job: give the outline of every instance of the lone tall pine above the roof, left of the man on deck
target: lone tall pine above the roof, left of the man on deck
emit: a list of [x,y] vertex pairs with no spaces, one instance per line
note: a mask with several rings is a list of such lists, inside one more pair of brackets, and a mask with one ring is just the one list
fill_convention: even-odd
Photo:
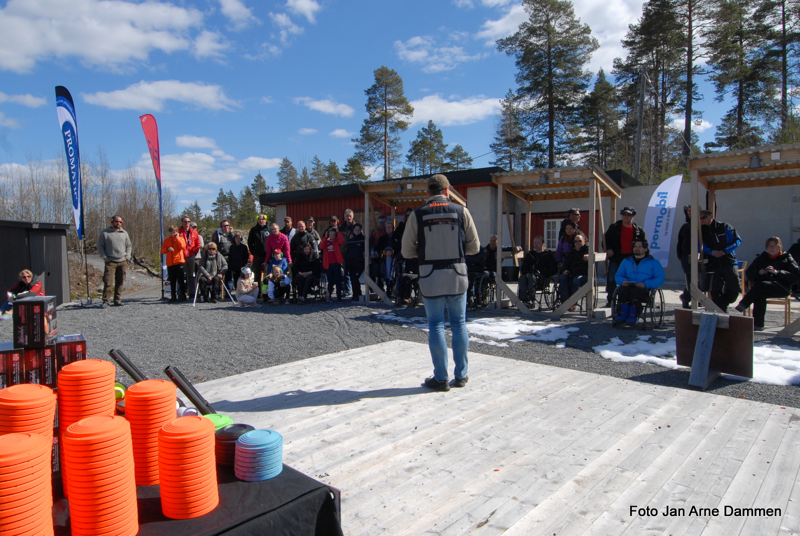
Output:
[[400,151],[399,132],[408,128],[406,119],[414,107],[403,94],[402,78],[386,66],[374,70],[375,83],[365,90],[366,114],[358,138],[353,138],[358,159],[370,164],[383,164],[383,178],[391,178],[391,168]]

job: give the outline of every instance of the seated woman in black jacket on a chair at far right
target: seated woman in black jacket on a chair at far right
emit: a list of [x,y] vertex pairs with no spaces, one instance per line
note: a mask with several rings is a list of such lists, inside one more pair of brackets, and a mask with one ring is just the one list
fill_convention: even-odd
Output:
[[753,264],[747,266],[746,276],[750,290],[735,307],[740,313],[753,306],[753,328],[764,329],[766,298],[785,298],[792,285],[800,281],[797,262],[783,251],[783,243],[777,236],[766,239],[766,251],[758,255]]

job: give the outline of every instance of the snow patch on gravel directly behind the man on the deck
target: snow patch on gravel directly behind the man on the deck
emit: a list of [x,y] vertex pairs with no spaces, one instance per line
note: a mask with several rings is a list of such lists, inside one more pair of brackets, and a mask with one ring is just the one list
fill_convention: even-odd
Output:
[[[428,326],[428,320],[425,317],[404,318],[394,313],[377,313],[374,316],[381,320],[401,322],[403,326],[416,327],[423,330],[427,330]],[[445,322],[445,326],[450,326],[450,323]],[[482,342],[490,346],[507,347],[507,344],[486,341],[478,337],[488,337],[507,342],[555,342],[565,340],[570,336],[571,332],[578,331],[579,328],[514,318],[474,318],[466,321],[466,330],[474,335],[474,337],[470,337],[470,341]]]

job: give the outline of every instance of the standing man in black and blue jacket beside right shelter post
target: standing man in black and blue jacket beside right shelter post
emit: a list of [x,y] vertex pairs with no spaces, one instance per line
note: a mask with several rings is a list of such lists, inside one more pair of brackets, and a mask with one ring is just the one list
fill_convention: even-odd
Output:
[[726,222],[718,222],[710,210],[700,210],[702,252],[708,259],[706,270],[714,272],[711,300],[727,312],[736,301],[742,283],[737,273],[736,248],[742,245],[736,230]]

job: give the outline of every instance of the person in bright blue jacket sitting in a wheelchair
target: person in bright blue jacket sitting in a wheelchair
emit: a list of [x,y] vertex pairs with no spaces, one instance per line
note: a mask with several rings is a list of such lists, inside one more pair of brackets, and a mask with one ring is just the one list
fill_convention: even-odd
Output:
[[617,322],[636,323],[636,314],[642,311],[642,303],[650,298],[650,290],[664,284],[664,269],[661,262],[650,256],[650,245],[646,240],[635,240],[634,256],[619,263],[614,282],[617,283],[617,299],[621,304]]

